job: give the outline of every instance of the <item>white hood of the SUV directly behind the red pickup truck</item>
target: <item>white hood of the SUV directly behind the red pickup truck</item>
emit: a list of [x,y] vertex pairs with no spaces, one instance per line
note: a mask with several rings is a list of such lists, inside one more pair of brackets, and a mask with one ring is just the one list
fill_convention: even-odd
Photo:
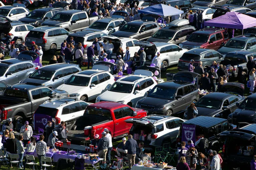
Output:
[[[130,93],[118,93],[118,92],[106,91],[100,95],[100,100],[119,102],[129,98],[130,95],[131,95]],[[113,98],[111,96],[115,96],[115,97]]]

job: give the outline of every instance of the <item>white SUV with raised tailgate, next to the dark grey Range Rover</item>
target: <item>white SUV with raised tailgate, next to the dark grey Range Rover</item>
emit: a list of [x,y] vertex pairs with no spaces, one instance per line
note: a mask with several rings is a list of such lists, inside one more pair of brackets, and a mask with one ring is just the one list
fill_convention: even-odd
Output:
[[134,74],[118,79],[109,89],[96,98],[96,102],[111,101],[135,107],[136,103],[157,85],[148,70],[135,70]]

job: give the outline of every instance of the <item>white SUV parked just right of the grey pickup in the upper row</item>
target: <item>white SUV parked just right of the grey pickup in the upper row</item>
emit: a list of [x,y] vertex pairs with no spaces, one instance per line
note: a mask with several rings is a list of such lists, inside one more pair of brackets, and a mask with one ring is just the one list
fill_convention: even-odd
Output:
[[100,18],[99,20],[93,22],[85,30],[103,32],[111,35],[112,33],[118,31],[118,28],[123,21],[124,19],[122,18]]

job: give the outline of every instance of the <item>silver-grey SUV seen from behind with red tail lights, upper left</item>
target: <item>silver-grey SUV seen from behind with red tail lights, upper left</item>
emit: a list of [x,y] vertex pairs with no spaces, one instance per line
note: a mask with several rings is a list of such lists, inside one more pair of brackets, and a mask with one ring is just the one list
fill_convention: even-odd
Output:
[[42,50],[50,50],[54,54],[61,48],[61,43],[67,39],[69,32],[60,27],[37,27],[30,30],[26,37],[26,45],[31,49],[31,42],[42,46]]

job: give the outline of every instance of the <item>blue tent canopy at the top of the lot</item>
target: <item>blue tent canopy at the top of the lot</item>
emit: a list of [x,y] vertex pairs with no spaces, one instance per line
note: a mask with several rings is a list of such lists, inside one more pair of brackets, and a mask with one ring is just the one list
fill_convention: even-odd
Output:
[[167,16],[172,16],[172,15],[183,14],[184,12],[182,10],[176,9],[169,5],[157,4],[157,5],[152,5],[147,8],[138,10],[138,13],[157,14],[162,17],[167,17]]

